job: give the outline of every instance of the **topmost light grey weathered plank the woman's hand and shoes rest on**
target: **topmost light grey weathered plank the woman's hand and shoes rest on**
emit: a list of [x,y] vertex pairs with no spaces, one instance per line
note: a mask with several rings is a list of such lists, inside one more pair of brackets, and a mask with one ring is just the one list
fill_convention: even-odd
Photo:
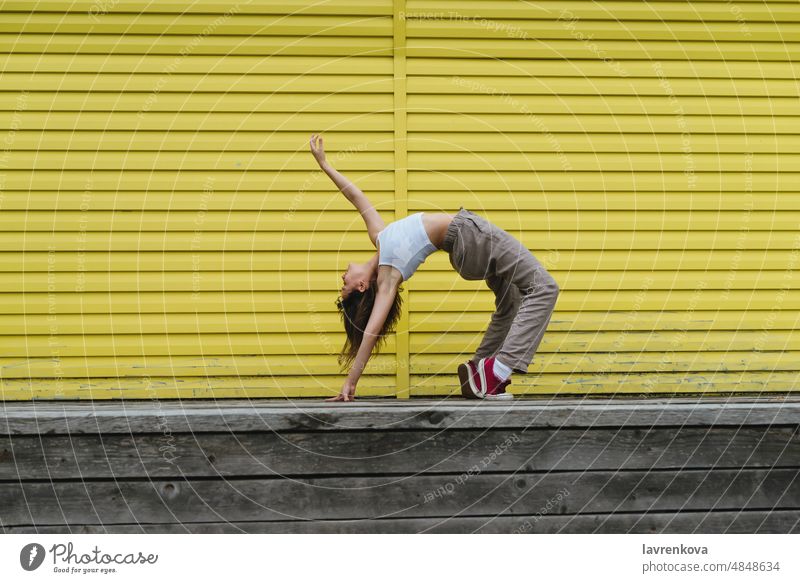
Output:
[[800,397],[674,397],[517,399],[510,403],[414,399],[319,399],[223,403],[5,403],[0,434],[208,433],[365,429],[495,429],[542,427],[796,425]]

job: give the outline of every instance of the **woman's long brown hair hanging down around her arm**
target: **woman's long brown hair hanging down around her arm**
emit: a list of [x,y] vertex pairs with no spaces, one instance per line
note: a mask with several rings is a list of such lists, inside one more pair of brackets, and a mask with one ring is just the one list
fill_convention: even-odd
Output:
[[[338,357],[342,372],[349,370],[356,356],[358,356],[358,349],[361,347],[361,340],[364,338],[364,329],[367,327],[369,317],[372,315],[372,308],[375,305],[377,287],[377,280],[373,279],[369,287],[363,292],[353,290],[347,296],[347,299],[340,297],[336,300],[336,307],[339,309],[339,314],[344,323],[344,332],[347,335]],[[381,326],[381,331],[378,334],[373,354],[380,352],[381,347],[386,343],[386,335],[394,330],[400,319],[403,307],[403,298],[400,296],[401,291],[403,291],[403,288],[398,287],[394,302],[392,302],[389,313],[386,315],[386,321]]]

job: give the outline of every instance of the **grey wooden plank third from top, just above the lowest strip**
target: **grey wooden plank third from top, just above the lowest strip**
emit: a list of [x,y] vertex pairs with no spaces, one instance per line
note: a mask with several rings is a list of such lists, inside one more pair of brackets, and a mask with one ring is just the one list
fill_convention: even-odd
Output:
[[[114,524],[530,515],[558,493],[563,494],[553,514],[800,510],[800,470],[475,474],[465,468],[460,474],[402,479],[2,482],[0,522],[15,526],[80,523],[87,518]],[[23,500],[37,504],[26,506]]]

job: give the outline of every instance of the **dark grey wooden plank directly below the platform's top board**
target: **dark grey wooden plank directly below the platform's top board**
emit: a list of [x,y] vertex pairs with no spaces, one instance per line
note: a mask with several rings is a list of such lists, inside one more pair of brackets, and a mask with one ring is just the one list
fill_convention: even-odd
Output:
[[506,472],[800,467],[800,427],[0,437],[0,480],[457,473],[474,464]]

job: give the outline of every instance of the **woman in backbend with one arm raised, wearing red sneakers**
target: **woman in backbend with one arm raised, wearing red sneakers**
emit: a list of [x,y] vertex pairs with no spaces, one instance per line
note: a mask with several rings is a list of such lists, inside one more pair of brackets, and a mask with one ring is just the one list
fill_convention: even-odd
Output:
[[347,339],[339,364],[350,368],[341,393],[328,401],[351,401],[373,350],[385,341],[400,316],[398,291],[425,259],[447,252],[450,265],[467,280],[483,279],[495,294],[495,312],[475,356],[458,366],[467,398],[511,399],[511,373],[527,373],[559,287],[533,254],[503,229],[461,207],[449,213],[415,213],[386,226],[364,193],[326,160],[322,137],[311,136],[320,168],[358,209],[377,253],[350,263],[342,275],[336,305]]

